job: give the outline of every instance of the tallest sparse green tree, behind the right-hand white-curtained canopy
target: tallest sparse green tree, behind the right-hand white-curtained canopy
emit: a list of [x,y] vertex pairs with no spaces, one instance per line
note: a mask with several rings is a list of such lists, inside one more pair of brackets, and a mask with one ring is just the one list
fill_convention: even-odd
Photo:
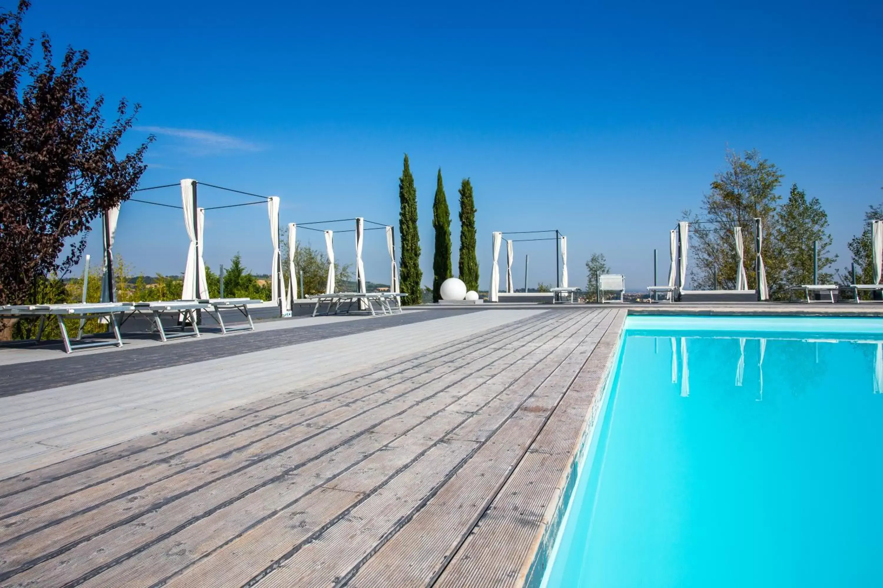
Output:
[[756,287],[754,258],[754,219],[759,218],[764,232],[764,264],[766,281],[771,292],[784,291],[786,267],[781,247],[775,242],[778,234],[777,206],[781,197],[776,190],[784,175],[758,151],[739,155],[727,152],[727,167],[714,175],[711,190],[702,200],[701,215],[684,213],[692,223],[702,222],[689,236],[688,261],[692,287],[710,289],[717,272],[719,287],[736,288],[738,257],[733,229],[743,231],[744,257],[749,288]]

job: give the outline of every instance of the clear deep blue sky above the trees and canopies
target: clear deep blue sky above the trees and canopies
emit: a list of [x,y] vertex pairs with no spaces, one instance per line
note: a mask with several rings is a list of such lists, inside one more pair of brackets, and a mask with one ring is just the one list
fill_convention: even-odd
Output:
[[[638,289],[653,248],[667,273],[668,228],[698,209],[728,148],[779,165],[783,195],[797,182],[819,197],[847,264],[864,210],[883,201],[880,22],[872,2],[34,0],[26,26],[59,52],[89,49],[94,93],[142,104],[132,139],[157,137],[144,186],[192,177],[275,194],[283,224],[397,225],[409,153],[425,283],[442,167],[455,243],[457,187],[472,178],[482,287],[492,231],[558,228],[572,282],[600,251]],[[150,198],[179,202],[173,189]],[[200,191],[201,205],[238,201]],[[386,281],[381,232],[369,235],[368,279]],[[205,241],[215,269],[238,250],[268,271],[262,206],[210,214]],[[124,205],[117,251],[136,270],[181,272],[186,242],[180,212]],[[532,285],[555,280],[552,244],[517,243],[517,284],[525,253]]]

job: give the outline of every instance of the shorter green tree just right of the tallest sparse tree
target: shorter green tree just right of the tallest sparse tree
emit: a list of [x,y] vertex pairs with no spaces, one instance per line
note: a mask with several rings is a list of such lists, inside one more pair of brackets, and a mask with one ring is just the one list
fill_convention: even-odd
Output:
[[785,264],[784,283],[792,286],[812,283],[813,242],[819,242],[819,284],[830,284],[828,271],[837,261],[830,248],[834,242],[827,232],[828,220],[819,198],[806,199],[804,190],[791,186],[788,201],[781,205],[775,244],[781,248]]

